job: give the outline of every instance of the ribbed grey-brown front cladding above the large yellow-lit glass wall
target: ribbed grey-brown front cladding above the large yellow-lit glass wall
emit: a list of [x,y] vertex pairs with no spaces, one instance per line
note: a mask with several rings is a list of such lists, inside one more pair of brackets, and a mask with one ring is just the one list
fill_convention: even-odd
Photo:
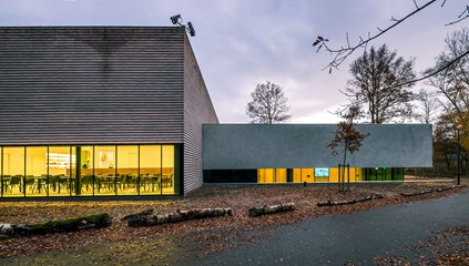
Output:
[[182,143],[179,27],[0,28],[0,145]]

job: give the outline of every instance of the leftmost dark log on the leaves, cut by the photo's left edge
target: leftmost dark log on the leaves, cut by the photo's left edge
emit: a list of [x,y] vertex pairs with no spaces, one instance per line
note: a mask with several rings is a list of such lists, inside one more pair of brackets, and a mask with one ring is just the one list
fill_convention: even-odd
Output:
[[103,228],[112,224],[109,214],[82,216],[78,218],[50,221],[42,224],[0,224],[0,236],[43,235],[49,233],[77,232],[91,228]]

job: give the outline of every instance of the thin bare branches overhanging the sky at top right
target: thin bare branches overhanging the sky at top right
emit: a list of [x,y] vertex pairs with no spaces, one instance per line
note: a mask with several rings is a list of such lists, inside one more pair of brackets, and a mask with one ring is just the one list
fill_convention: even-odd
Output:
[[[378,39],[379,37],[386,34],[386,32],[392,30],[394,28],[397,28],[399,24],[405,22],[410,17],[419,13],[424,9],[436,4],[440,2],[441,7],[445,7],[446,0],[430,0],[421,6],[419,6],[415,0],[415,10],[409,12],[408,14],[404,16],[401,19],[396,19],[395,17],[391,17],[390,20],[392,23],[385,29],[377,28],[378,32],[375,34],[371,34],[368,32],[367,38],[360,37],[356,43],[350,43],[348,33],[346,34],[346,43],[347,45],[341,45],[339,48],[332,48],[328,45],[329,40],[325,37],[318,35],[316,40],[313,42],[313,47],[317,47],[317,52],[322,49],[326,52],[329,52],[334,58],[333,60],[324,68],[328,69],[329,73],[332,73],[333,69],[338,69],[340,64],[343,64],[346,59],[351,55],[355,51],[367,48],[368,43],[373,42],[374,40]],[[463,11],[457,17],[456,20],[448,22],[446,25],[459,23],[462,20],[466,20],[469,18],[469,6],[463,7]],[[461,51],[461,53],[458,54],[458,57],[453,58],[453,60],[449,61],[447,64],[440,65],[440,68],[435,69],[432,72],[427,72],[425,75],[414,79],[412,81],[408,81],[409,83],[415,83],[417,81],[426,80],[435,74],[438,74],[439,72],[446,70],[447,68],[450,68],[453,63],[458,62],[461,58],[469,55],[469,50]]]

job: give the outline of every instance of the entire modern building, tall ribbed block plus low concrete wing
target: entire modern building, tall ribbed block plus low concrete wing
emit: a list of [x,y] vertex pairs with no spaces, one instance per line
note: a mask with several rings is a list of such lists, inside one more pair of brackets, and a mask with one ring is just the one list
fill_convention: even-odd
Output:
[[[337,181],[335,125],[218,124],[181,27],[0,28],[0,197]],[[431,126],[360,125],[351,181],[431,166]]]

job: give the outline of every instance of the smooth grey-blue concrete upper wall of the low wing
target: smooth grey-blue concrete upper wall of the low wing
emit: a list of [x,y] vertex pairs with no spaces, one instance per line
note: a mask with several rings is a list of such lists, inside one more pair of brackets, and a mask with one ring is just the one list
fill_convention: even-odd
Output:
[[[204,170],[336,167],[343,155],[326,147],[335,124],[205,124]],[[430,167],[431,125],[360,124],[370,135],[347,154],[357,167]]]

